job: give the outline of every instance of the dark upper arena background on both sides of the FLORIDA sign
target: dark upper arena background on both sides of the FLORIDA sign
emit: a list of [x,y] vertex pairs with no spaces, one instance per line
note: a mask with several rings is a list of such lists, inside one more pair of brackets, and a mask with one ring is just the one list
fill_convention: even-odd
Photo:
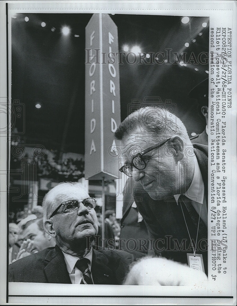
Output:
[[[29,21],[24,20],[25,17]],[[141,52],[208,52],[209,19],[181,16],[110,15],[118,27],[119,51],[139,45]],[[13,136],[25,144],[41,144],[46,149],[84,154],[85,125],[85,27],[92,14],[23,14],[12,22],[12,103],[24,104],[19,120],[13,120]],[[43,28],[41,23],[45,22]],[[202,23],[207,22],[203,28]],[[63,36],[60,28],[71,28]],[[52,32],[51,28],[55,31]],[[199,33],[202,35],[199,35]],[[74,35],[79,35],[75,37]],[[192,39],[196,39],[193,43]],[[189,47],[184,44],[188,42]],[[177,116],[188,134],[200,133],[205,121],[198,115],[197,102],[189,91],[208,77],[208,64],[119,65],[121,120],[128,115],[132,99],[159,96],[177,105]],[[198,71],[195,70],[198,69]],[[10,73],[10,71],[9,71]],[[41,103],[40,109],[35,108]],[[15,107],[16,109],[16,107]],[[13,112],[13,116],[14,112]],[[14,118],[13,118],[14,119]],[[23,121],[25,126],[23,127]],[[16,130],[17,129],[17,130]],[[15,134],[16,133],[16,134]]]

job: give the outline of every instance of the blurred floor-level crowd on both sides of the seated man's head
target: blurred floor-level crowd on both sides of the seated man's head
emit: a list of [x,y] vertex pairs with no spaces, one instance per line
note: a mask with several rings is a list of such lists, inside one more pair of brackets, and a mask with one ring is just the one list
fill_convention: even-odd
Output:
[[[102,244],[102,214],[97,212],[99,231],[98,245],[108,247],[108,241],[119,246],[120,221],[116,219],[115,211],[105,211],[104,239]],[[29,210],[25,205],[22,211],[9,212],[9,264],[22,258],[55,246],[55,241],[44,230],[43,208],[38,205]]]

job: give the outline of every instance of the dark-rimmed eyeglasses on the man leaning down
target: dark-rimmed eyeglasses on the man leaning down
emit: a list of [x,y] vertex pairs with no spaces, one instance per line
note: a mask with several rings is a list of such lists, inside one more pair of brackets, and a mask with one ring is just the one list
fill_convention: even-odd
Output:
[[169,138],[166,138],[164,140],[159,141],[156,144],[153,144],[152,146],[148,147],[147,149],[141,151],[137,155],[135,155],[132,159],[132,162],[122,166],[119,171],[125,173],[127,176],[132,177],[133,176],[133,166],[138,170],[143,170],[146,168],[147,164],[142,157],[143,155],[147,154],[151,150],[160,147],[162,144],[164,144],[166,141],[170,140]]

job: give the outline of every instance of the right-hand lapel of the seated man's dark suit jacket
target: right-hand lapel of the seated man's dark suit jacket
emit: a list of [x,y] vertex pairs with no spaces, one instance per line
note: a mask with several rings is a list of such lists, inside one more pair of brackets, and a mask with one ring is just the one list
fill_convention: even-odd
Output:
[[115,283],[113,272],[108,268],[107,257],[94,250],[92,255],[91,274],[94,284],[112,285]]

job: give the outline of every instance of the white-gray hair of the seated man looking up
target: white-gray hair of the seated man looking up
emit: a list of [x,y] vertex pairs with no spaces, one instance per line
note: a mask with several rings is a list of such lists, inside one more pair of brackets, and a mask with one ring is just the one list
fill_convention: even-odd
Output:
[[[79,182],[62,182],[59,183],[57,186],[50,189],[46,195],[44,196],[42,207],[43,207],[43,222],[45,222],[49,218],[49,211],[50,208],[60,202],[60,198],[68,192],[68,186],[75,186],[83,189],[82,183]],[[51,212],[52,213],[52,212]]]

